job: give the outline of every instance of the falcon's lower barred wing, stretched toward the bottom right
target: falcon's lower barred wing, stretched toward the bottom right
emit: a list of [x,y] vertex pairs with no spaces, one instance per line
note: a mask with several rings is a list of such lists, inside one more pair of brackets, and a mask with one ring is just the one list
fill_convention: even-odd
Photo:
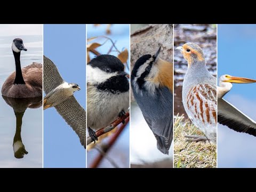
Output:
[[77,102],[74,95],[70,96],[59,105],[55,106],[58,113],[65,119],[68,125],[78,135],[81,144],[86,147],[86,112],[84,108]]

